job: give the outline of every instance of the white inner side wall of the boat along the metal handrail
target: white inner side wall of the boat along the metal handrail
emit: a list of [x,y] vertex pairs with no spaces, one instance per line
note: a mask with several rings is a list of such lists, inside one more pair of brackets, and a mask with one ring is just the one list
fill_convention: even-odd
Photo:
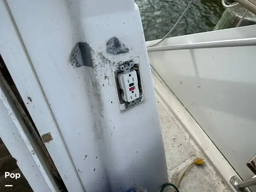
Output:
[[[160,46],[252,38],[255,31],[246,26],[193,34]],[[243,179],[254,175],[246,162],[256,153],[255,53],[256,46],[149,53],[150,64]]]

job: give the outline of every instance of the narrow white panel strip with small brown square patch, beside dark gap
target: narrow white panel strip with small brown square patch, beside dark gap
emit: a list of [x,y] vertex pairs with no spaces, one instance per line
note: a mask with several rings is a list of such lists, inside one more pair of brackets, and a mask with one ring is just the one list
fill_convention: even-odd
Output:
[[[2,29],[0,30],[0,54],[12,74],[12,78],[39,133],[41,135],[48,132],[52,133],[53,140],[47,143],[46,147],[68,190],[83,191],[82,185],[76,176],[76,170],[72,167],[72,162],[66,153],[58,130],[38,88],[24,49],[20,44],[20,39],[2,1],[0,1],[0,9],[0,26]],[[28,100],[28,97],[32,98],[32,102]]]

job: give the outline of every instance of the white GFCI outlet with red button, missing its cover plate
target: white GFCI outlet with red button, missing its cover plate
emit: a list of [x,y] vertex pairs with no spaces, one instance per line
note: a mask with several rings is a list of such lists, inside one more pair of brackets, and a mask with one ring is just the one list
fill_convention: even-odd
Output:
[[140,97],[138,78],[135,70],[118,74],[118,82],[120,89],[122,89],[121,97],[124,101],[130,102]]

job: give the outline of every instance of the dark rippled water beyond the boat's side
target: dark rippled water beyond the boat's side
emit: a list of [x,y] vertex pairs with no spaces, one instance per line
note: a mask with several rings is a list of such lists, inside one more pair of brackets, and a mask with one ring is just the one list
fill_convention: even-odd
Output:
[[[162,38],[176,23],[189,0],[135,0],[146,41]],[[220,19],[224,8],[221,0],[194,0],[184,18],[170,36],[211,31]]]

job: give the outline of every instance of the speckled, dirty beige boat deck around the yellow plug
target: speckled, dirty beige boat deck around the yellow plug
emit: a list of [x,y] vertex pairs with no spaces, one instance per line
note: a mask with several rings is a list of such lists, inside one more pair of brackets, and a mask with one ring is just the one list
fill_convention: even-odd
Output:
[[[154,84],[156,78],[153,73]],[[159,83],[159,82],[158,82]],[[169,181],[177,184],[181,174],[196,158],[203,158],[205,164],[193,165],[182,179],[181,192],[228,192],[230,191],[214,170],[212,164],[187,132],[181,121],[168,108],[161,95],[156,92],[158,114],[162,127],[162,136],[166,153]],[[171,187],[170,187],[171,189]],[[167,191],[167,190],[166,190]],[[173,190],[170,190],[173,191]]]

